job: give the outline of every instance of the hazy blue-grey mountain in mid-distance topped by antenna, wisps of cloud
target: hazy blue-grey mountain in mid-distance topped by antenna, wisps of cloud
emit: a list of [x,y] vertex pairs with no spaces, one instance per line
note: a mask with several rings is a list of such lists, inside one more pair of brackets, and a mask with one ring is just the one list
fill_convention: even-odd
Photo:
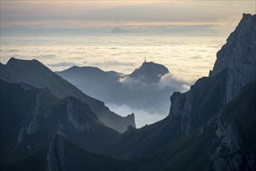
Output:
[[153,62],[144,62],[131,75],[76,66],[56,73],[105,103],[165,115],[170,108],[170,92],[181,91],[184,84],[166,67]]

